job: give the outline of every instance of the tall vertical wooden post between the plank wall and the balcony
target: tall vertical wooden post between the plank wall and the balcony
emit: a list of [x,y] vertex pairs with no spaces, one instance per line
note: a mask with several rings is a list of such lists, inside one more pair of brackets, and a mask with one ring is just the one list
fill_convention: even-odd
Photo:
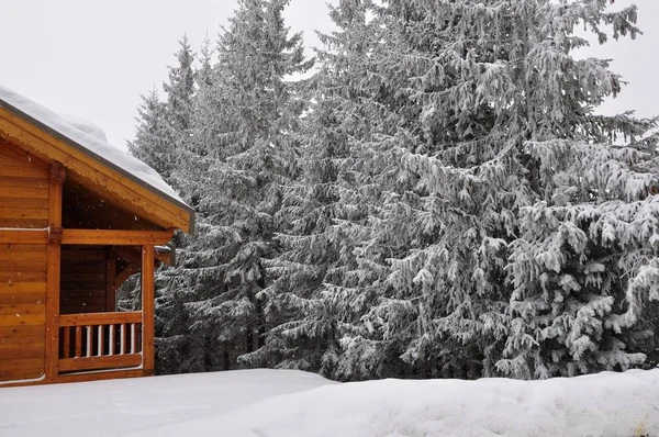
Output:
[[65,167],[53,164],[48,193],[48,255],[46,267],[46,381],[57,377],[59,359],[59,279],[62,258],[62,187]]

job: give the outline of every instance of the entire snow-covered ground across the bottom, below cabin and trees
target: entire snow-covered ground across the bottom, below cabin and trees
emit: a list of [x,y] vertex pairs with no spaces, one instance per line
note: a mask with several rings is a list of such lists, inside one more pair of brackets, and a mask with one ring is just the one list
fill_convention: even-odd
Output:
[[0,389],[0,436],[659,436],[659,370],[336,384],[249,370]]

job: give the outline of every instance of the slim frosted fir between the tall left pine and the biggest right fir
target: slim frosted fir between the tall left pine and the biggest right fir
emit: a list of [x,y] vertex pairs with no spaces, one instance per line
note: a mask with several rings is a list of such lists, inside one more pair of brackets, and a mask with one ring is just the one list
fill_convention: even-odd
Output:
[[[369,47],[377,27],[367,24],[368,3],[342,1],[330,5],[338,30],[320,35],[325,49],[316,51],[320,70],[310,81],[314,102],[304,119],[301,175],[283,190],[277,239],[281,254],[266,262],[276,281],[261,295],[271,327],[263,349],[243,357],[250,366],[276,366],[320,371],[336,378],[337,359],[347,321],[365,311],[356,304],[359,288],[346,273],[356,269],[353,224],[364,223],[367,208],[359,204],[350,167],[350,145],[370,124],[360,99],[369,99]],[[373,83],[373,87],[377,87]],[[344,225],[339,225],[339,222]]]

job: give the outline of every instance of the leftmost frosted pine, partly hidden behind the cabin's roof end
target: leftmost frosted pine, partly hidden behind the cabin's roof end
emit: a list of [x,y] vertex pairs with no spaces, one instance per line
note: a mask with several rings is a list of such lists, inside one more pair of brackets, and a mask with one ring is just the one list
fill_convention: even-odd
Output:
[[[176,53],[178,65],[169,67],[168,81],[163,85],[166,100],[159,101],[154,90],[144,99],[139,110],[136,137],[130,152],[152,166],[163,178],[182,192],[174,178],[181,164],[180,154],[191,142],[192,98],[196,93],[194,56],[187,37],[179,42]],[[191,237],[176,236],[179,261],[185,264],[187,242]],[[196,347],[197,338],[190,332],[190,317],[185,304],[190,299],[189,278],[180,269],[161,268],[156,273],[156,352],[157,371],[176,373],[204,370],[203,345]]]

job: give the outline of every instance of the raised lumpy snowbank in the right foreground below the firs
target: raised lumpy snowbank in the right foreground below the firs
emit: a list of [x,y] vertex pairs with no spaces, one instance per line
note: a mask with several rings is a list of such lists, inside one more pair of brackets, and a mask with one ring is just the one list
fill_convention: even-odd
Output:
[[659,370],[325,385],[138,436],[659,436]]

